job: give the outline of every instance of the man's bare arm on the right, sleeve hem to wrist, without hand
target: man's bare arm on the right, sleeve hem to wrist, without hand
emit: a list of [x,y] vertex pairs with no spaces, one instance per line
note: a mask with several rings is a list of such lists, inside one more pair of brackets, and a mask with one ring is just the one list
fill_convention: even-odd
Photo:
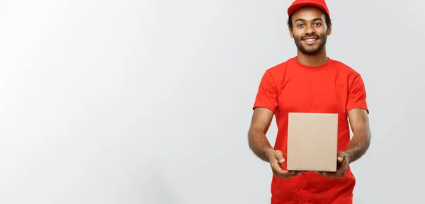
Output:
[[348,120],[350,121],[353,138],[348,143],[345,153],[349,163],[360,159],[368,150],[370,145],[370,128],[368,112],[363,108],[353,108],[348,111]]

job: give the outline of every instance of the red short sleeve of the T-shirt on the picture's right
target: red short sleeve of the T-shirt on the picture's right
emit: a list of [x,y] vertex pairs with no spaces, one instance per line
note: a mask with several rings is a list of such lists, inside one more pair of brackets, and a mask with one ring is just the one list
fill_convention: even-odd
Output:
[[368,104],[366,103],[365,84],[360,74],[354,77],[348,89],[347,113],[353,108],[363,108],[369,113]]

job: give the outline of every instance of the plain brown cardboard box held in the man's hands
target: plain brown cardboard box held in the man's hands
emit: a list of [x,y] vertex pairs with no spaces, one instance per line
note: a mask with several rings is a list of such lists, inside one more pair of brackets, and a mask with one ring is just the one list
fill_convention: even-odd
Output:
[[289,113],[289,171],[336,171],[338,114]]

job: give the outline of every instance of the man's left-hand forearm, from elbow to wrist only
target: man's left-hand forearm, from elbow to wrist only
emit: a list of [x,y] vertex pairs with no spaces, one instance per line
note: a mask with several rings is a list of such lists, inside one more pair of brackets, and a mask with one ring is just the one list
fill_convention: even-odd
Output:
[[268,154],[273,151],[266,134],[261,130],[251,129],[248,132],[249,148],[264,162],[268,162]]

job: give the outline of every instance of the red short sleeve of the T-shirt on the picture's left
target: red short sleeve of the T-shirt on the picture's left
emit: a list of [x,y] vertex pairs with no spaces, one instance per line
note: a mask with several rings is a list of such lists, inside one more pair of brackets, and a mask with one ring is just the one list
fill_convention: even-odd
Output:
[[273,113],[275,113],[278,108],[278,91],[276,83],[271,73],[268,71],[266,71],[261,78],[253,110],[259,107],[268,108],[273,111]]

